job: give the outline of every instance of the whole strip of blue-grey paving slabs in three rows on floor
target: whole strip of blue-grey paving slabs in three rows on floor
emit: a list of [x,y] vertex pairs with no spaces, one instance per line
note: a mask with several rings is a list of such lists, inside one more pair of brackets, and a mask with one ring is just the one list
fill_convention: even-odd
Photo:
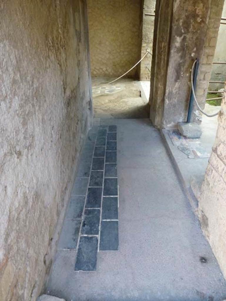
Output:
[[116,126],[93,127],[82,150],[59,249],[76,249],[75,270],[94,271],[98,250],[118,250]]

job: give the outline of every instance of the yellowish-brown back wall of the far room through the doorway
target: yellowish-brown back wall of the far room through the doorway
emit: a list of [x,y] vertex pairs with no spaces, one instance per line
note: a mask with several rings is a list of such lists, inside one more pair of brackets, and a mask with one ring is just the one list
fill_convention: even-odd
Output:
[[[92,76],[120,76],[140,59],[141,2],[87,1]],[[138,68],[127,77],[138,77]]]

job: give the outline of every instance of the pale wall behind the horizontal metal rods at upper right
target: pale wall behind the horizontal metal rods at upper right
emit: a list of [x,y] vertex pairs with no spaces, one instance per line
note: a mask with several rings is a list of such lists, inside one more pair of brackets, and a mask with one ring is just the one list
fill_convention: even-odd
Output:
[[[222,12],[222,17],[226,18],[226,1],[224,1],[224,8]],[[226,23],[225,20],[222,20],[222,23]],[[226,62],[226,25],[220,24],[219,32],[217,37],[217,45],[214,54],[215,62]],[[215,38],[216,38],[215,37]],[[224,82],[226,77],[226,66],[225,65],[213,65],[211,72],[211,80],[212,81],[220,81]],[[222,84],[209,84],[209,88],[211,91],[215,91],[223,88]]]

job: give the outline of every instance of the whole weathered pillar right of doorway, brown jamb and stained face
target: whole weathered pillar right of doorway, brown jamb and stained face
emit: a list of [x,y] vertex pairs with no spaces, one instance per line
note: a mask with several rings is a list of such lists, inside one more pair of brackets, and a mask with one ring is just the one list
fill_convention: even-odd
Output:
[[[170,5],[171,2],[169,2]],[[160,5],[160,11],[169,15],[169,5]],[[213,36],[218,31],[223,0],[173,0],[173,17],[171,26],[168,20],[156,21],[156,49],[152,59],[154,83],[151,83],[151,119],[158,127],[176,128],[178,122],[187,120],[187,110],[190,96],[190,74],[193,61],[201,58],[201,66],[197,85],[198,89],[206,85],[210,76],[213,51],[215,49]],[[157,13],[157,12],[156,12]],[[168,18],[169,19],[169,18]],[[161,41],[167,41],[171,36],[170,52],[163,48]],[[155,42],[154,42],[155,43]],[[165,42],[166,43],[166,42]],[[167,64],[167,65],[166,65]],[[165,71],[164,71],[165,70]],[[164,71],[164,72],[163,72]],[[163,74],[161,78],[156,77]],[[165,79],[165,73],[167,73]],[[161,92],[163,91],[163,92]],[[164,93],[166,91],[166,93]],[[164,94],[164,98],[159,93]],[[202,88],[203,99],[203,88]],[[205,97],[204,97],[205,98]]]

